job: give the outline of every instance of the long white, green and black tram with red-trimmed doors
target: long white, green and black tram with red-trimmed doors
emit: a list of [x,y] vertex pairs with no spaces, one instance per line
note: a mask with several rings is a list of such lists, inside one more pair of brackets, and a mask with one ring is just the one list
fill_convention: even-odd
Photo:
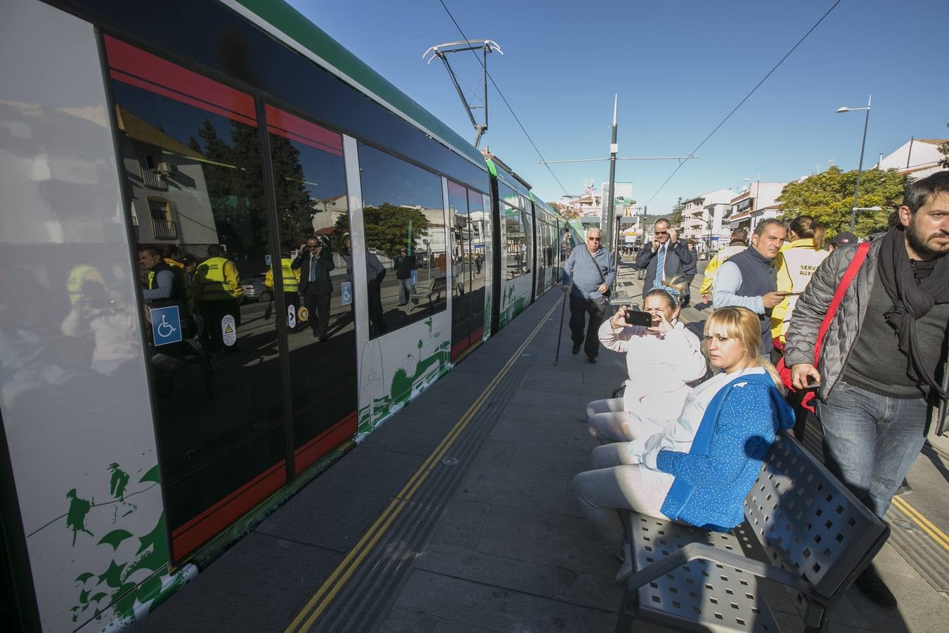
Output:
[[[571,228],[281,2],[0,24],[0,624],[121,628],[555,285]],[[319,315],[283,272],[312,235]]]

